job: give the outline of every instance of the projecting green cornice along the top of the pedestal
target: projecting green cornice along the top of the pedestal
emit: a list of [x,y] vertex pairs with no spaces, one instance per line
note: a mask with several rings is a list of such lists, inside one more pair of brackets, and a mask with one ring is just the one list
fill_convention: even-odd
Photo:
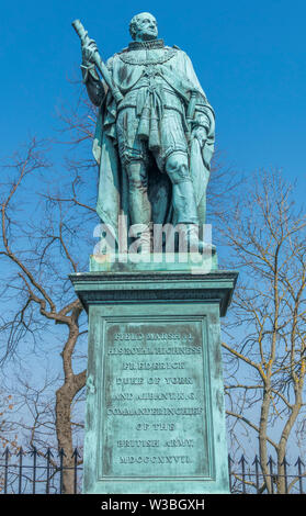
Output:
[[79,272],[69,278],[84,309],[91,304],[209,302],[219,304],[220,316],[230,304],[238,272],[184,271]]

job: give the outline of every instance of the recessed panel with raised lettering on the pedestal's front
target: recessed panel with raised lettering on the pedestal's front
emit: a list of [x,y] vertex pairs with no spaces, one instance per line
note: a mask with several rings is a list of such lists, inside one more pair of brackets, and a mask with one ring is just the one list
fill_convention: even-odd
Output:
[[203,322],[107,321],[103,339],[100,476],[209,476]]

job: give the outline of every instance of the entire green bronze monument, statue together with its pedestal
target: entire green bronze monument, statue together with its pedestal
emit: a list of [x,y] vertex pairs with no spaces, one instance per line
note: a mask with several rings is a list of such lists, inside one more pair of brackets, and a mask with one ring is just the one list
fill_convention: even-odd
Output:
[[199,242],[214,112],[189,57],[157,38],[151,14],[134,16],[133,42],[106,67],[73,26],[99,106],[98,213],[116,238],[125,215],[147,258],[93,255],[90,272],[70,276],[89,314],[83,492],[228,493],[219,318],[237,272],[218,270],[203,242],[197,259],[150,255],[152,223],[180,223]]

